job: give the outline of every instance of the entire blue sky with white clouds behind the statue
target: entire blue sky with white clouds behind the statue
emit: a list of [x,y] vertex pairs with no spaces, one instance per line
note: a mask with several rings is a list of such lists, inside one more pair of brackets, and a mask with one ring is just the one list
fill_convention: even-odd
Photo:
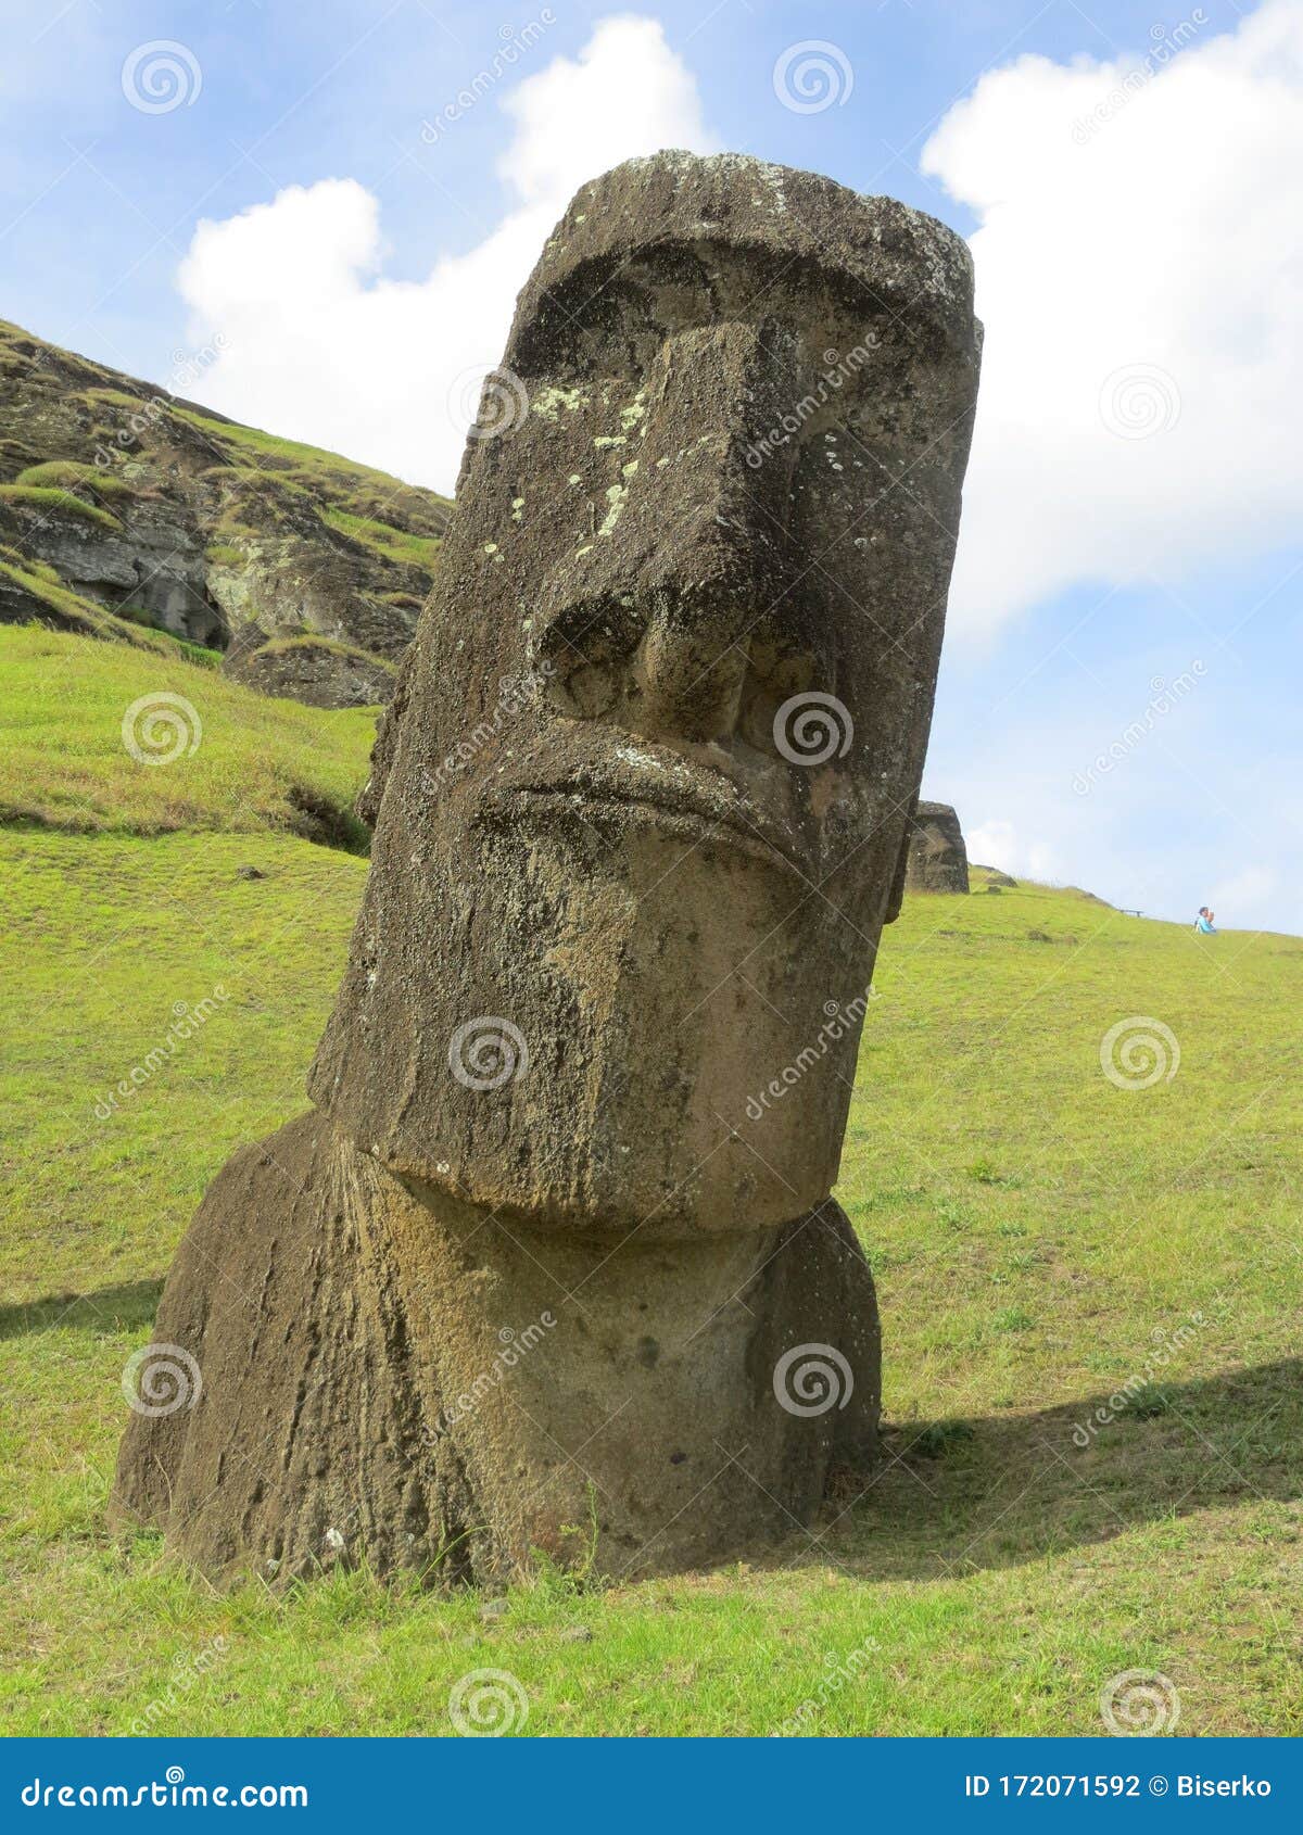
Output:
[[[925,791],[1013,872],[1303,930],[1301,0],[59,6],[6,7],[0,314],[160,382],[189,360],[184,393],[424,483],[521,250],[639,136],[973,237]],[[130,94],[160,40],[176,106]]]

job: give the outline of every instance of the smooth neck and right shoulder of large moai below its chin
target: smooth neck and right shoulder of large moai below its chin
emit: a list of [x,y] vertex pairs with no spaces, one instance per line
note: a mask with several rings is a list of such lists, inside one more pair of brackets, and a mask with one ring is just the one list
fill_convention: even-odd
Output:
[[[530,1228],[365,1167],[422,1451],[455,1464],[486,1525],[466,1525],[477,1578],[534,1549],[604,1573],[719,1560],[795,1530],[835,1461],[872,1455],[874,1286],[837,1206],[657,1242]],[[826,1407],[800,1389],[811,1362]]]

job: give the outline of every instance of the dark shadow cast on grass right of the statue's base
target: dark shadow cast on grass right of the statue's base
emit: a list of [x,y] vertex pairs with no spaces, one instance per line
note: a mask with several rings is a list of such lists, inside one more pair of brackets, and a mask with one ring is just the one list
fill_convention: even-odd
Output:
[[1283,1358],[1130,1400],[888,1426],[883,1466],[842,1481],[800,1563],[962,1576],[1197,1510],[1297,1497],[1303,1360]]

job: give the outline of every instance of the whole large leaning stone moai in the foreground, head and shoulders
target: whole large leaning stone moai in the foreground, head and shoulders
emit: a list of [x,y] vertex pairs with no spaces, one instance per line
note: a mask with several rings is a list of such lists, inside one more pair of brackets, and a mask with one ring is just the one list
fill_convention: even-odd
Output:
[[171,1270],[117,1516],[213,1576],[791,1534],[875,1450],[830,1196],[978,378],[963,242],[738,156],[585,185],[376,747],[312,1110]]

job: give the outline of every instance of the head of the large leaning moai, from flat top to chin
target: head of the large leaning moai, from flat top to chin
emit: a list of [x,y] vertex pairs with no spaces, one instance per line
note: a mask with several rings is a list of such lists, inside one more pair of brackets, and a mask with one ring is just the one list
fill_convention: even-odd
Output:
[[525,286],[395,717],[312,1095],[532,1228],[837,1174],[927,741],[971,264],[740,156],[585,185]]

